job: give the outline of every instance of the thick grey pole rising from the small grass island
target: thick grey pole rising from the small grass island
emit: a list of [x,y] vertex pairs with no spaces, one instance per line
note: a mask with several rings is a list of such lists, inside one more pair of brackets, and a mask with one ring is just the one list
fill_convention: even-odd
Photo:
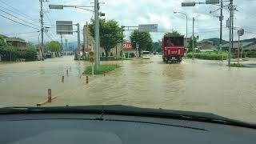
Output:
[[94,19],[95,19],[95,25],[94,25],[94,41],[96,42],[96,48],[95,48],[95,68],[98,70],[98,66],[100,65],[99,62],[99,18],[98,18],[98,10],[99,10],[99,3],[98,0],[94,0]]

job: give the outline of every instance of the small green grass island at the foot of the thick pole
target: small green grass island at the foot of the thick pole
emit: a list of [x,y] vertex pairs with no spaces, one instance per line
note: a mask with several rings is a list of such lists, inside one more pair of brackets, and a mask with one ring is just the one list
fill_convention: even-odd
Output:
[[[113,71],[121,66],[118,65],[101,65],[98,70],[94,70],[94,74],[104,74]],[[92,66],[87,66],[86,70],[82,74],[91,74]]]

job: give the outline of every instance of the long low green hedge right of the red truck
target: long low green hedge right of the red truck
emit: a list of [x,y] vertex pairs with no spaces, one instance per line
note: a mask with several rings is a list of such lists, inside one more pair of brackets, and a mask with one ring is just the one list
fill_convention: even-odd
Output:
[[[187,58],[192,58],[192,56],[192,53],[186,55]],[[222,54],[218,54],[217,52],[194,53],[194,58],[206,60],[226,60],[227,57],[228,54],[224,52]]]

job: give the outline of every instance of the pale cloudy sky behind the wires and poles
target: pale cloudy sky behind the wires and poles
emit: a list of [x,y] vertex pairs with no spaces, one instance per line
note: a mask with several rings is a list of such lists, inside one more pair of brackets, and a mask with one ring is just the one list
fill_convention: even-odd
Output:
[[[46,0],[45,0],[46,1]],[[174,11],[180,11],[188,14],[188,31],[192,34],[192,18],[195,18],[194,31],[200,40],[204,38],[219,38],[220,22],[217,16],[220,11],[210,14],[220,6],[214,5],[197,5],[194,7],[182,7],[181,3],[190,0],[101,0],[105,2],[101,5],[102,12],[106,13],[106,19],[114,19],[119,22],[120,26],[138,26],[138,24],[158,24],[158,32],[150,33],[155,41],[162,38],[166,31],[178,30],[181,34],[186,35],[186,18],[182,14],[174,14]],[[93,13],[86,10],[74,8],[65,8],[64,10],[49,10],[49,4],[65,5],[83,5],[91,6],[92,0],[50,0],[44,2],[44,22],[50,26],[50,31],[46,35],[46,41],[51,39],[60,40],[60,36],[55,32],[55,21],[69,20],[80,25],[90,22]],[[191,1],[190,1],[191,2]],[[198,0],[196,2],[204,2]],[[226,6],[228,3],[224,2]],[[237,8],[234,15],[234,26],[242,27],[246,30],[242,38],[255,38],[256,34],[256,1],[255,0],[234,0]],[[37,27],[39,24],[39,1],[38,0],[0,0],[0,34],[7,36],[16,36],[25,38],[29,42],[38,42],[37,30],[22,26],[12,22],[22,22],[28,26]],[[7,12],[8,14],[6,14]],[[10,16],[10,14],[14,15]],[[223,38],[228,40],[229,31],[226,28],[226,19],[229,17],[227,7],[223,10]],[[2,18],[2,16],[6,18]],[[22,19],[22,20],[21,20]],[[25,22],[24,22],[25,21]],[[28,34],[21,34],[28,33]],[[126,31],[126,39],[129,39],[130,31]],[[77,41],[77,35],[65,35],[64,38],[69,42]],[[237,39],[236,30],[234,30],[234,39]]]

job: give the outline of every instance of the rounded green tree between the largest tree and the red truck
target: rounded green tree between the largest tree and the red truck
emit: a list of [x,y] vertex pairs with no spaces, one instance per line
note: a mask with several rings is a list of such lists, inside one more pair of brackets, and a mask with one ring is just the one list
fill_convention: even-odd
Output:
[[154,43],[152,38],[150,37],[149,32],[134,30],[130,34],[130,42],[132,42],[133,47],[136,47],[136,44],[138,43],[139,57],[141,57],[142,50],[147,50],[147,51],[153,50]]

